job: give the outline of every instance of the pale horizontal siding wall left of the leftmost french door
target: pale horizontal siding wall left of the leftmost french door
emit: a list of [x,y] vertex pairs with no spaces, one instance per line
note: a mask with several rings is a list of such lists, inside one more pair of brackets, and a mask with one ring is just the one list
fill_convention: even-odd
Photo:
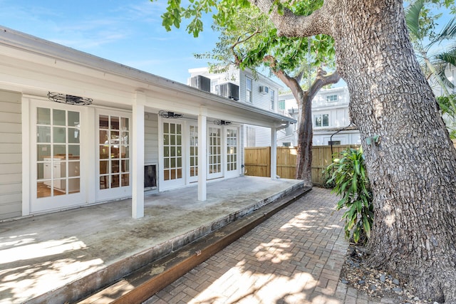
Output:
[[0,90],[0,219],[21,216],[21,94]]

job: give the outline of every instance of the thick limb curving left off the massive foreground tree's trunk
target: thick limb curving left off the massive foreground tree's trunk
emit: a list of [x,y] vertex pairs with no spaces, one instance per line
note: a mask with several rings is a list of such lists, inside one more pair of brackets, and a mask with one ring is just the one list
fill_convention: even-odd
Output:
[[288,37],[309,37],[319,33],[331,36],[331,13],[326,4],[331,1],[324,1],[321,9],[317,9],[309,16],[297,16],[289,9],[284,9],[284,14],[279,14],[274,0],[249,0],[256,5],[277,28],[279,36]]

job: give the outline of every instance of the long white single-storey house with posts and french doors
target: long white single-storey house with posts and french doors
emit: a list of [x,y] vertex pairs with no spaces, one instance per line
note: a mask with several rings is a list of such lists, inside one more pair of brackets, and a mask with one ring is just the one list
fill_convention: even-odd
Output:
[[191,184],[204,201],[207,181],[243,174],[245,123],[274,138],[292,122],[0,27],[0,219],[125,197],[140,218],[145,189]]

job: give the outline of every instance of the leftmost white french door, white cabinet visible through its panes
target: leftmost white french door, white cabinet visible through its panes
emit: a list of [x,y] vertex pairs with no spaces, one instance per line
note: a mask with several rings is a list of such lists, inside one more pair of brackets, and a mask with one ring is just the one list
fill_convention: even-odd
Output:
[[85,204],[81,110],[31,103],[31,212]]

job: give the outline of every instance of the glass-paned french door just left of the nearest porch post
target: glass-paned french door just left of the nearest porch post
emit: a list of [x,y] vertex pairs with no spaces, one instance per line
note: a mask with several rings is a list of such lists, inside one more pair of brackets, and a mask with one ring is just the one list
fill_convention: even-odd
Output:
[[97,111],[97,201],[131,195],[131,115]]

